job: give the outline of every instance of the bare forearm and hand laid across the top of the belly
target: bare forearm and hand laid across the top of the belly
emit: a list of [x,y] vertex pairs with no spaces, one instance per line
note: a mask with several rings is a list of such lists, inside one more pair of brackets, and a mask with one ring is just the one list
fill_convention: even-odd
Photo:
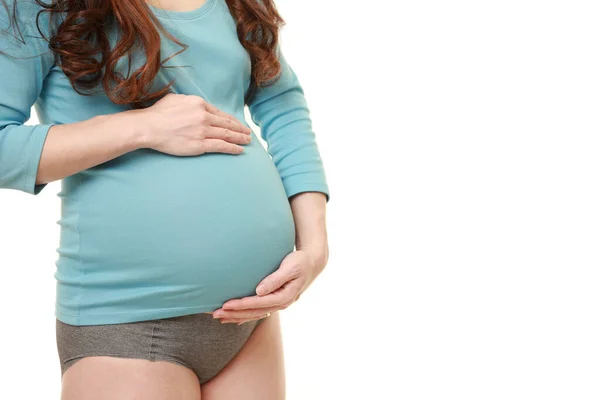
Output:
[[36,184],[62,179],[140,148],[177,156],[240,154],[250,128],[198,96],[169,94],[152,107],[52,126]]

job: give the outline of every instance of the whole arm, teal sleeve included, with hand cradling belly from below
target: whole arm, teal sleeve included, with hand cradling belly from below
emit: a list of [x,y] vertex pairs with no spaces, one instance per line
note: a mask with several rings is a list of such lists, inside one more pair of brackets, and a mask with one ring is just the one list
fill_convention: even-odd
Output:
[[329,259],[325,207],[329,187],[316,143],[304,90],[278,49],[281,75],[257,90],[249,104],[279,171],[296,225],[296,251],[256,288],[256,296],[228,300],[213,316],[243,323],[263,318],[296,302]]

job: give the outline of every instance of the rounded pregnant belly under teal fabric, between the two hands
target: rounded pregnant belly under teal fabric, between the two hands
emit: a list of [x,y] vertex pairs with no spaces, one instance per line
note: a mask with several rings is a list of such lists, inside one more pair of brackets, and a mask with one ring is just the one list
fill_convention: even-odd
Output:
[[59,301],[81,291],[79,311],[212,310],[255,294],[294,248],[285,190],[256,141],[237,156],[137,150],[80,173],[72,191],[81,265],[59,260],[57,278]]

